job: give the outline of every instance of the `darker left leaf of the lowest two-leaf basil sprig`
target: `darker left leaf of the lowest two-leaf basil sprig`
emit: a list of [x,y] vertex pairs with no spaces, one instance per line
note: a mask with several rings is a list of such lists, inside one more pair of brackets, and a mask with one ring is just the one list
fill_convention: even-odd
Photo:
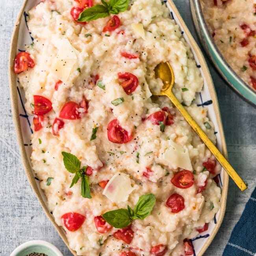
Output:
[[108,211],[102,215],[104,220],[115,228],[125,228],[132,223],[129,211],[127,209],[118,209]]

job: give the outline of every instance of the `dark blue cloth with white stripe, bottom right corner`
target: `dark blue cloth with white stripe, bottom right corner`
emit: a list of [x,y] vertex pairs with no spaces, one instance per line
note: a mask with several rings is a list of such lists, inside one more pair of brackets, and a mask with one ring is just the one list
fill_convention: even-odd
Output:
[[256,255],[256,188],[237,222],[223,256]]

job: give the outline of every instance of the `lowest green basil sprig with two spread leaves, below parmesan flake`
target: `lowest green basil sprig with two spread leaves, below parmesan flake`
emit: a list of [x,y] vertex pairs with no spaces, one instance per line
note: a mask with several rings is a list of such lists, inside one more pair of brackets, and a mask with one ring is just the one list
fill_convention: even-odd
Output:
[[153,194],[142,195],[134,207],[130,206],[127,209],[118,209],[108,211],[102,215],[104,220],[115,228],[125,228],[129,226],[135,219],[145,219],[150,215],[156,202],[156,197]]

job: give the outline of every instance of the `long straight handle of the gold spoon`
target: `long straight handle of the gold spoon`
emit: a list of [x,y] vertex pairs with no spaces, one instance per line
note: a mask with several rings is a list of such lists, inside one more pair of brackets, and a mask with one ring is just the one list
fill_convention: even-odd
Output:
[[173,104],[176,106],[176,108],[180,111],[180,113],[184,116],[186,121],[191,125],[191,127],[195,130],[195,132],[198,134],[198,136],[202,139],[202,141],[205,143],[205,145],[210,149],[211,153],[215,156],[215,158],[219,161],[219,163],[224,167],[228,175],[234,180],[236,185],[241,189],[241,191],[244,191],[247,189],[247,186],[245,182],[239,177],[239,175],[236,173],[234,168],[228,163],[226,158],[224,158],[223,154],[218,150],[217,147],[211,142],[211,140],[208,138],[208,136],[203,132],[203,130],[198,126],[198,124],[194,121],[194,119],[189,115],[187,110],[180,104],[180,102],[177,100],[177,98],[173,95],[171,90],[167,90],[164,92],[164,95],[170,98],[170,100],[173,102]]

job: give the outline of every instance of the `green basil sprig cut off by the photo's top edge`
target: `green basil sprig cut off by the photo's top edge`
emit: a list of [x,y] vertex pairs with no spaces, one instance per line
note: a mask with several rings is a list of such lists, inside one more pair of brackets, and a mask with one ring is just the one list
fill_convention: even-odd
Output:
[[78,21],[90,21],[104,17],[108,17],[110,13],[118,14],[121,11],[125,11],[128,7],[129,0],[110,0],[109,3],[101,0],[101,4],[85,9],[80,13]]

